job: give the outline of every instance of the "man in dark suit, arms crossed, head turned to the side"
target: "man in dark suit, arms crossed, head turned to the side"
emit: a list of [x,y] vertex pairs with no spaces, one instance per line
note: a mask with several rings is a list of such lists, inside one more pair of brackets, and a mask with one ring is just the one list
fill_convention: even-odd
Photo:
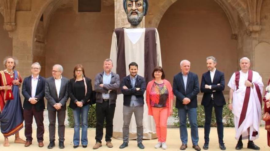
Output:
[[222,93],[225,88],[224,73],[216,69],[217,60],[213,56],[206,58],[206,65],[209,71],[203,74],[201,82],[201,92],[203,92],[202,105],[204,106],[205,112],[203,149],[208,149],[209,146],[210,124],[214,106],[218,126],[219,148],[225,150],[222,122],[222,110],[223,106],[226,104]]

